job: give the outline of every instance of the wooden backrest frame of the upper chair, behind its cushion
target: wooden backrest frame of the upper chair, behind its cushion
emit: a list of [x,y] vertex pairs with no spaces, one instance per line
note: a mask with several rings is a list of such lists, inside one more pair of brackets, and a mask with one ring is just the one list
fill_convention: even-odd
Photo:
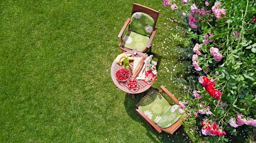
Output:
[[[155,24],[157,24],[157,18],[159,15],[159,11],[150,9],[150,8],[140,5],[140,4],[133,3],[132,14],[135,12],[143,12],[143,13],[148,14],[149,16],[151,16],[153,18],[153,20],[155,21]],[[131,16],[132,16],[132,14],[131,14]]]

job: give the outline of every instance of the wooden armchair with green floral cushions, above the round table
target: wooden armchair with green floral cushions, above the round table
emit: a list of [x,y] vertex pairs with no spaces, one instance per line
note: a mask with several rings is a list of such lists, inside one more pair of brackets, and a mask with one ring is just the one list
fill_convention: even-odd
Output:
[[[126,20],[118,35],[121,38],[119,44],[121,53],[132,49],[146,53],[151,48],[151,42],[157,31],[155,24],[158,15],[159,11],[133,3],[131,18]],[[128,32],[124,35],[127,27]]]

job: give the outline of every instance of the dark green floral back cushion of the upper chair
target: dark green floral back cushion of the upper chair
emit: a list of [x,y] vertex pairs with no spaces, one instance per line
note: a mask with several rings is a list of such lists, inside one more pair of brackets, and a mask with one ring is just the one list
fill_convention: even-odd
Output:
[[135,12],[130,20],[130,30],[150,37],[155,29],[154,19],[146,13]]

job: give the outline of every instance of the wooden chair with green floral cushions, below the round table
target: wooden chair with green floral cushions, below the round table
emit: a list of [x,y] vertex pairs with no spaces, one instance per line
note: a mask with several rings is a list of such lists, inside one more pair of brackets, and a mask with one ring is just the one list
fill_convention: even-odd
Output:
[[[181,126],[179,101],[164,86],[162,90],[152,89],[137,103],[139,114],[152,130],[173,134]],[[175,104],[169,103],[161,93],[167,94]]]

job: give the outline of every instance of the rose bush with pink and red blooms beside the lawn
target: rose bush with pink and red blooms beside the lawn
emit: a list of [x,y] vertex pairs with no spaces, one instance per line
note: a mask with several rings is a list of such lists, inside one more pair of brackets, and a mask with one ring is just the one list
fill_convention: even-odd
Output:
[[188,19],[186,37],[174,39],[188,48],[194,45],[194,55],[190,57],[193,69],[189,71],[193,75],[183,75],[180,80],[186,84],[180,110],[184,117],[190,115],[186,122],[195,123],[200,117],[202,134],[213,136],[205,138],[208,142],[228,141],[226,133],[237,134],[239,130],[247,132],[247,142],[254,142],[256,3],[182,0],[183,4],[178,5],[163,1]]

